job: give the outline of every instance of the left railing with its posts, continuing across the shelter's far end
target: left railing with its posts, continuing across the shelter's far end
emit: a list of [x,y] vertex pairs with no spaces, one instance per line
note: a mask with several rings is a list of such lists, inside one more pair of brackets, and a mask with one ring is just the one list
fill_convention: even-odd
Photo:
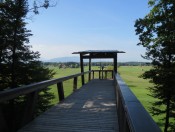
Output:
[[[69,80],[69,79],[73,79],[73,91],[76,91],[78,77],[81,76],[81,78],[84,79],[84,77],[82,77],[82,76],[84,76],[85,74],[88,74],[89,75],[88,80],[90,81],[91,80],[91,73],[93,73],[93,78],[94,78],[94,72],[99,73],[99,78],[101,78],[100,73],[104,72],[105,77],[107,78],[107,72],[112,72],[112,71],[111,70],[106,70],[103,72],[100,70],[87,71],[84,73],[78,73],[75,75],[70,75],[70,76],[66,76],[66,77],[62,77],[62,78],[58,78],[58,79],[46,80],[46,81],[42,81],[42,82],[38,82],[38,83],[26,85],[26,86],[14,88],[14,89],[1,91],[0,92],[0,124],[1,124],[0,131],[5,131],[5,130],[8,131],[7,124],[6,124],[5,118],[3,116],[1,103],[4,103],[6,101],[10,101],[12,99],[15,99],[15,98],[21,96],[21,95],[22,96],[25,95],[27,97],[24,115],[22,117],[23,119],[21,120],[21,122],[22,122],[21,126],[23,126],[26,123],[30,122],[34,117],[34,111],[35,111],[35,106],[37,104],[37,97],[38,97],[39,91],[41,91],[41,90],[43,90],[51,85],[57,84],[57,90],[58,90],[58,95],[59,95],[58,97],[59,97],[59,100],[62,101],[65,98],[64,88],[63,88],[64,81]],[[84,82],[84,80],[82,80],[82,82]],[[82,83],[82,84],[84,84],[84,83]]]

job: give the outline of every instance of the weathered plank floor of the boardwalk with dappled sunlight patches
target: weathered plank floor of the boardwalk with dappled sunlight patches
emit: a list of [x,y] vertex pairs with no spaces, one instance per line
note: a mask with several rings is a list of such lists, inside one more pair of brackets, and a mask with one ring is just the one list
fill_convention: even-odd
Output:
[[113,80],[92,80],[19,132],[118,132]]

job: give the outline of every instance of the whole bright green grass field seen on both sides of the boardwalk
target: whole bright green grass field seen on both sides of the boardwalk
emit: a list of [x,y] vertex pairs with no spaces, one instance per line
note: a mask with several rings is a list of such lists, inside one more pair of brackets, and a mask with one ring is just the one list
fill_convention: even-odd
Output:
[[[56,74],[54,78],[60,78],[67,75],[72,75],[80,72],[80,68],[66,68],[66,69],[59,69],[58,67],[49,67],[53,69]],[[121,66],[119,67],[118,71],[122,79],[126,82],[126,84],[130,87],[131,91],[136,95],[136,97],[140,100],[143,104],[145,109],[149,112],[149,107],[151,102],[155,101],[154,98],[148,95],[149,91],[147,90],[148,87],[152,86],[148,80],[144,80],[139,78],[139,76],[146,70],[149,70],[151,67],[149,66]],[[98,67],[92,67],[92,69],[99,69]],[[88,67],[85,67],[85,71],[88,71]],[[78,87],[81,87],[80,77],[78,78]],[[85,82],[88,80],[88,76],[85,76]],[[65,96],[67,97],[73,91],[73,80],[68,80],[63,83]],[[55,99],[52,101],[53,104],[58,102],[58,94],[56,85],[51,86],[52,92],[55,95]],[[157,122],[157,124],[162,129],[163,121],[159,119],[159,117],[153,117],[153,119]]]

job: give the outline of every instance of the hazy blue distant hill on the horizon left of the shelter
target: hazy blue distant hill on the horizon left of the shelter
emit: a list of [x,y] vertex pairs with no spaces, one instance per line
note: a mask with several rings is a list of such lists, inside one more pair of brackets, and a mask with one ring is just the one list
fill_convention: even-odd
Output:
[[44,62],[80,62],[80,57],[58,57],[50,60],[44,60]]

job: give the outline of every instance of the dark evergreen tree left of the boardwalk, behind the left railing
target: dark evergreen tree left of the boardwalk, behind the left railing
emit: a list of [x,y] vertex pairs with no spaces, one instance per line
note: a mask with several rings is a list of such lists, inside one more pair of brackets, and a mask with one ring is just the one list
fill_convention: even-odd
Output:
[[[34,1],[35,2],[35,1]],[[26,29],[26,16],[32,9],[34,13],[40,7],[29,9],[28,0],[6,0],[0,3],[0,90],[16,88],[34,82],[39,82],[52,78],[54,72],[43,67],[39,61],[39,52],[31,51],[29,37],[31,31]],[[50,99],[54,96],[49,92],[49,88],[41,91],[38,97],[37,111],[35,115],[48,109]],[[4,105],[4,115],[8,121],[11,131],[20,126],[22,106],[26,97],[19,97]],[[44,103],[43,103],[44,102]],[[43,104],[43,105],[41,105]]]

